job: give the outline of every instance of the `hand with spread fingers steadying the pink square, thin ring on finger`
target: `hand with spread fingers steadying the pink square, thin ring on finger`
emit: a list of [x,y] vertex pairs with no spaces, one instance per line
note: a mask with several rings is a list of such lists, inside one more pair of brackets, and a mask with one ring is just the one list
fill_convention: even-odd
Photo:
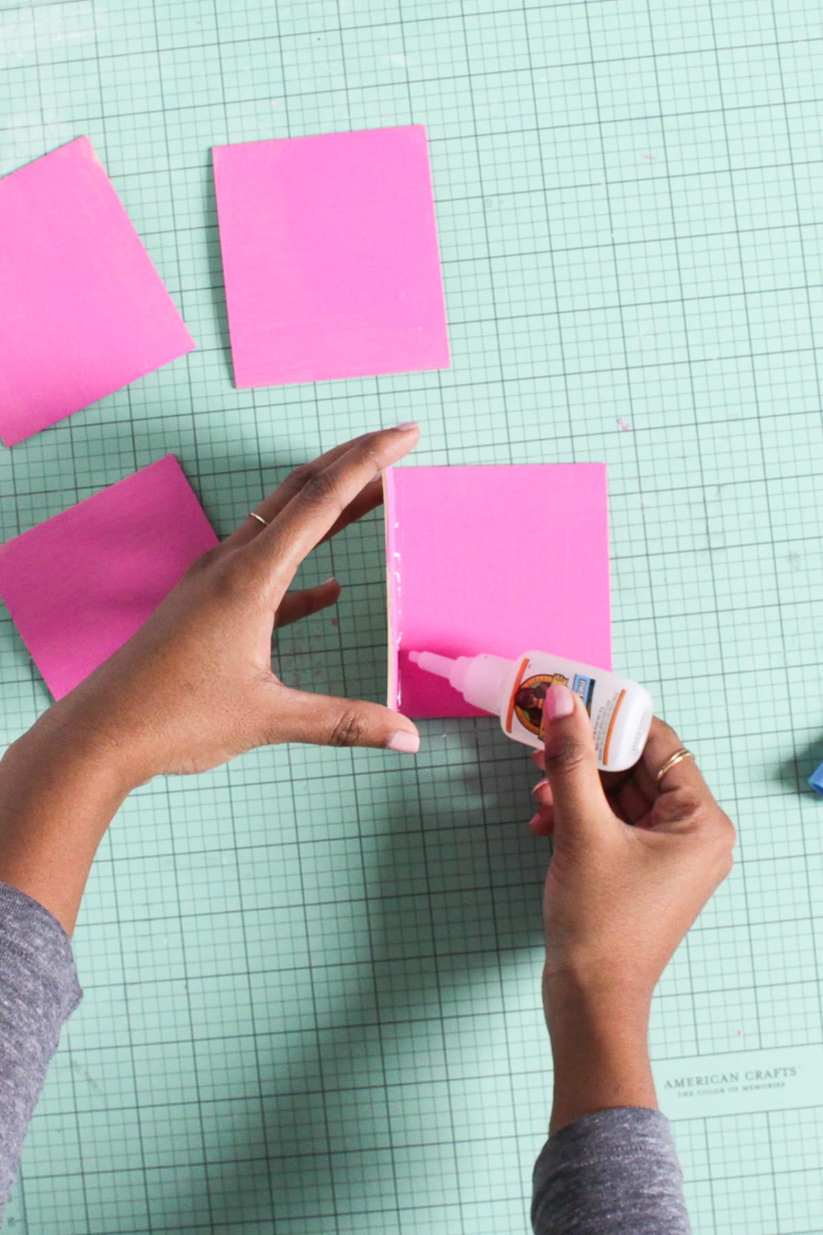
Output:
[[381,469],[417,437],[416,425],[366,433],[297,468],[259,504],[267,526],[247,517],[199,558],[146,625],[36,727],[69,743],[93,732],[126,789],[274,742],[413,753],[420,739],[405,716],[280,682],[271,635],[337,600],[334,579],[286,589],[321,540],[383,500]]

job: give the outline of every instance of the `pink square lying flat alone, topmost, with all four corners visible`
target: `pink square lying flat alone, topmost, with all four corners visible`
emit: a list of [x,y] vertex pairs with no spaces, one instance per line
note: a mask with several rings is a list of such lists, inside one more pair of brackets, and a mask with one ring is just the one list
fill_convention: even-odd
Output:
[[422,125],[216,146],[238,387],[449,364]]

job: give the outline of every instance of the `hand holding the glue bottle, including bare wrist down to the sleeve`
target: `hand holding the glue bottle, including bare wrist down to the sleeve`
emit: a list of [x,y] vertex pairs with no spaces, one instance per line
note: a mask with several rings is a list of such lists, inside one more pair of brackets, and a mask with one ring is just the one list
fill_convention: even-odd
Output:
[[645,1047],[651,993],[732,868],[735,832],[693,760],[654,720],[639,763],[597,771],[582,703],[554,685],[543,711],[545,771],[531,827],[552,834],[543,918],[543,1002],[555,1055],[552,1125],[592,1109],[654,1105]]

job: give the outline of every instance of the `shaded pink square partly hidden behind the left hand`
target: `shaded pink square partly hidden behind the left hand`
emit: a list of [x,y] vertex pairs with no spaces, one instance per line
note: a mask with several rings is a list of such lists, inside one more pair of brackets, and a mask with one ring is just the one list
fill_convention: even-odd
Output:
[[0,597],[56,699],[217,543],[174,454],[0,546]]

